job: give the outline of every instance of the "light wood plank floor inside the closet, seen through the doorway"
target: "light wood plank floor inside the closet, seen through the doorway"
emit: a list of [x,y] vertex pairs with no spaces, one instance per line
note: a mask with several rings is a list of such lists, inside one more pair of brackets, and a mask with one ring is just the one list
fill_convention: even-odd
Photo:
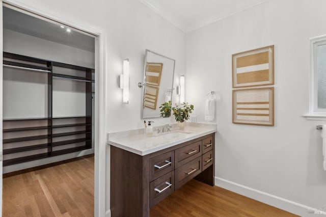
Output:
[[3,216],[94,216],[94,156],[4,178]]

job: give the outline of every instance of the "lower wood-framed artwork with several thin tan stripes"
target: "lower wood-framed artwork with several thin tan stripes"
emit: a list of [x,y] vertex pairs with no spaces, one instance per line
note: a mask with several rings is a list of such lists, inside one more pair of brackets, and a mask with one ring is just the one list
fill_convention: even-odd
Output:
[[274,126],[274,87],[232,92],[232,123]]

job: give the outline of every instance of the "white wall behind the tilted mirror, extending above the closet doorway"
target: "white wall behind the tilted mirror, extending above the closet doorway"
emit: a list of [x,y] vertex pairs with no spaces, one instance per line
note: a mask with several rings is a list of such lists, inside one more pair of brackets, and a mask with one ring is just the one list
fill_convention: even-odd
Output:
[[[106,104],[107,131],[143,127],[141,116],[142,82],[145,49],[176,60],[175,75],[184,74],[185,35],[175,26],[150,11],[138,0],[112,1],[50,1],[18,0],[19,4],[33,7],[46,14],[54,14],[72,24],[83,23],[106,33]],[[62,7],[62,6],[65,7]],[[78,9],[76,9],[78,5]],[[118,75],[122,72],[122,61],[129,58],[130,100],[122,102],[122,90],[118,88]],[[174,82],[178,85],[177,80]],[[175,97],[174,97],[175,98]],[[172,120],[172,119],[170,119]],[[155,119],[155,125],[170,122]],[[155,126],[154,125],[154,126]],[[106,210],[110,209],[110,150],[106,153]]]

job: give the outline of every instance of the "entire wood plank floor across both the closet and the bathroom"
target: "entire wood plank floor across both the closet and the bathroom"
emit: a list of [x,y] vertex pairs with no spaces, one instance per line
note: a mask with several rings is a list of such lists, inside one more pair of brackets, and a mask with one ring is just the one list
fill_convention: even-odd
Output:
[[[196,180],[155,205],[150,215],[296,216]],[[3,216],[94,216],[94,157],[4,178]]]

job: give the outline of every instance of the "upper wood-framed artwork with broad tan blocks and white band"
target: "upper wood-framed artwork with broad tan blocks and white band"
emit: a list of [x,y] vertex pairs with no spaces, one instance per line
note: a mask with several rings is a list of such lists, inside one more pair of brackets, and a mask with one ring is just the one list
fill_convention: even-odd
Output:
[[232,55],[232,87],[274,85],[274,45]]

